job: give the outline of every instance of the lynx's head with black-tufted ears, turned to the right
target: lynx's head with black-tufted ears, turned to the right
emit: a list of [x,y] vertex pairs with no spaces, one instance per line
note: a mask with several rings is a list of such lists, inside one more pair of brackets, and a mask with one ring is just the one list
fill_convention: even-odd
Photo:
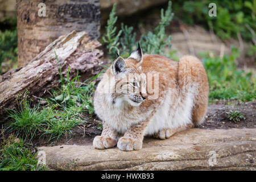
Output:
[[139,106],[147,98],[146,75],[142,72],[143,53],[141,47],[133,51],[127,59],[118,56],[111,67],[115,90],[113,98]]

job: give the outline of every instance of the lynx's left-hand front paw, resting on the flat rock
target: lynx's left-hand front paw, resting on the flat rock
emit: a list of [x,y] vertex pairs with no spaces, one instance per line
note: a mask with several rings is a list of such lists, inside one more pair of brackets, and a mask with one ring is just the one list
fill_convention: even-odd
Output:
[[112,148],[117,144],[117,140],[110,137],[96,136],[93,140],[93,147],[98,149]]

